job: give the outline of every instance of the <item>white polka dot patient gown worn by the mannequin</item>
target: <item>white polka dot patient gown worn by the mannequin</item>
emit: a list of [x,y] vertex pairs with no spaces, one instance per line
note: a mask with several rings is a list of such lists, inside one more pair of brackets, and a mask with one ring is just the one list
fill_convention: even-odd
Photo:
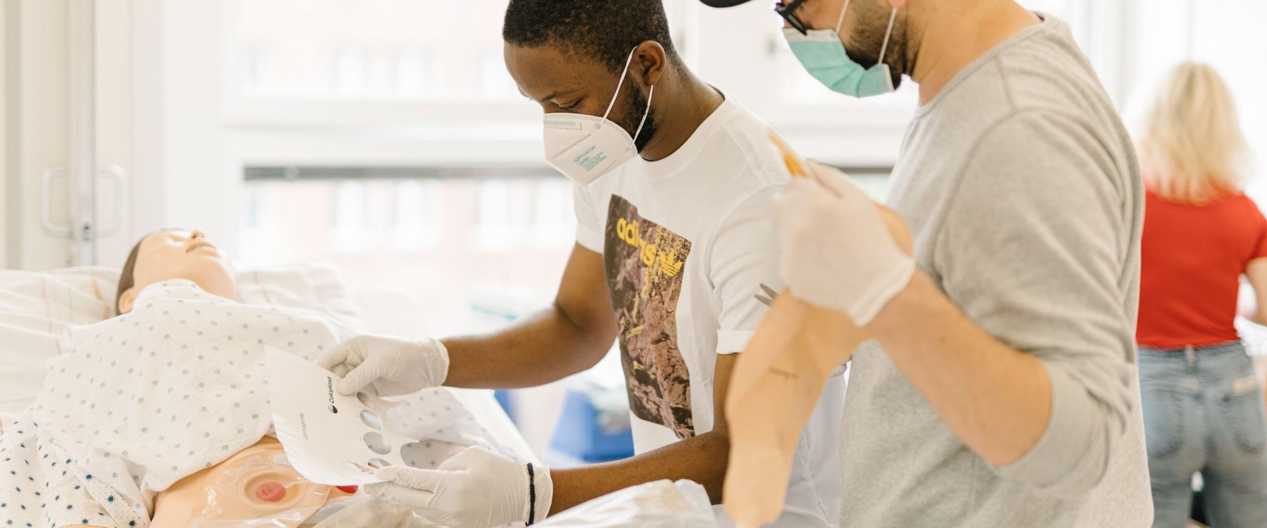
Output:
[[[144,527],[158,491],[271,432],[264,347],[308,360],[352,332],[321,313],[246,305],[172,280],[132,313],[73,327],[24,422],[0,436],[0,528]],[[392,404],[388,427],[436,467],[466,446],[507,452],[446,389]]]

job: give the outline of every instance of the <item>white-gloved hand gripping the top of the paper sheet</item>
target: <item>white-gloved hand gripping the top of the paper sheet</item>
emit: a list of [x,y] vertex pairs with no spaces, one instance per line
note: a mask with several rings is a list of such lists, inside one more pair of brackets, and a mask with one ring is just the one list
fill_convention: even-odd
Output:
[[331,348],[317,365],[342,377],[334,387],[340,394],[369,386],[379,396],[397,396],[442,385],[449,349],[437,339],[357,336]]

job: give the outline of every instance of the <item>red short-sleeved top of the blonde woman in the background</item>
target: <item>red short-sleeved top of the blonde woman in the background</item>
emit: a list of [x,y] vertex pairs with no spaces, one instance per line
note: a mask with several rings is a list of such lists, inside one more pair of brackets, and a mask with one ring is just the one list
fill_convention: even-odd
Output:
[[1238,339],[1240,275],[1261,257],[1267,219],[1245,195],[1194,206],[1149,191],[1135,341],[1173,348]]

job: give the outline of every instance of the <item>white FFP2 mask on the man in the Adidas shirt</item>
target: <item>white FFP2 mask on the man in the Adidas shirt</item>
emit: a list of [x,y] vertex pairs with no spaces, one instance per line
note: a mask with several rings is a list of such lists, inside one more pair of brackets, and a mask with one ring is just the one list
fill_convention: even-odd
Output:
[[639,122],[632,138],[621,125],[607,119],[612,113],[612,106],[616,105],[616,97],[621,95],[621,86],[625,85],[625,76],[630,71],[630,62],[634,61],[635,52],[637,52],[636,48],[630,52],[630,58],[625,61],[625,71],[621,72],[621,80],[616,84],[616,94],[612,95],[612,101],[607,104],[607,111],[603,113],[602,118],[573,113],[545,115],[546,162],[580,185],[593,184],[637,154],[634,141],[642,133],[646,116],[651,113],[651,96],[655,95],[655,86],[651,86],[647,92],[646,110],[642,111],[642,120]]

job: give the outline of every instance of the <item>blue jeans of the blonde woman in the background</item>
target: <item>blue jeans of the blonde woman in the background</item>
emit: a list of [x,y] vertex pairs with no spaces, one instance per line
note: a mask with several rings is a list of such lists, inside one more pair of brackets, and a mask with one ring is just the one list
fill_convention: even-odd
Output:
[[1196,472],[1213,528],[1267,527],[1267,418],[1244,346],[1140,347],[1139,381],[1153,527],[1187,524]]

